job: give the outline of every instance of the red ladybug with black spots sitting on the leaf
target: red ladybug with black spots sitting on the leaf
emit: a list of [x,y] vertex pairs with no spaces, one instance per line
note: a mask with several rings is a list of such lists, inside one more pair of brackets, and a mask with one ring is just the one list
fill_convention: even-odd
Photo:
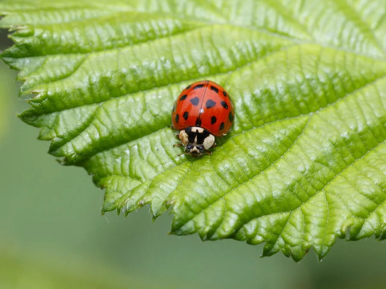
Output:
[[193,157],[211,155],[215,136],[225,136],[234,119],[234,108],[228,93],[209,80],[188,85],[174,102],[172,123],[179,130],[177,138]]

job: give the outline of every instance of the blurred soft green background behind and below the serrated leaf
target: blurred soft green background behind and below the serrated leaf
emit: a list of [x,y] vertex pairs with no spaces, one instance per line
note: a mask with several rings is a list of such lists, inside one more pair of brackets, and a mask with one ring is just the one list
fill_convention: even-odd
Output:
[[152,223],[147,208],[101,216],[103,191],[85,170],[59,165],[15,116],[27,107],[15,76],[0,64],[1,289],[385,287],[386,246],[374,238],[295,263],[259,258],[262,245],[168,235],[171,216]]

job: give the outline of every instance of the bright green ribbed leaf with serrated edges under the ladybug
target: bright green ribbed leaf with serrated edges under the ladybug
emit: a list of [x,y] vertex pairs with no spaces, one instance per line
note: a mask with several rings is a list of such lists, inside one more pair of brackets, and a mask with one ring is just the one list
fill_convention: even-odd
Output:
[[[169,207],[171,233],[300,260],[386,238],[383,0],[5,0],[1,27],[49,152],[106,188],[102,211]],[[235,106],[212,156],[178,157],[193,81]]]

